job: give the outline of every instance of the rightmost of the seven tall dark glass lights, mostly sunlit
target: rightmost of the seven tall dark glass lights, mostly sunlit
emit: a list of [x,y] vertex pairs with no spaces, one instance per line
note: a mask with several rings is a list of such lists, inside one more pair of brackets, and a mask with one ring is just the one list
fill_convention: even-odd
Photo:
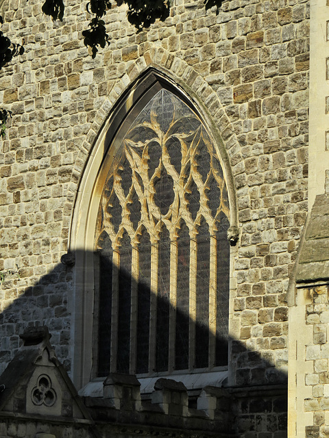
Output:
[[228,242],[228,218],[221,213],[217,240],[217,318],[216,318],[216,365],[228,363],[228,312],[230,300],[230,243]]

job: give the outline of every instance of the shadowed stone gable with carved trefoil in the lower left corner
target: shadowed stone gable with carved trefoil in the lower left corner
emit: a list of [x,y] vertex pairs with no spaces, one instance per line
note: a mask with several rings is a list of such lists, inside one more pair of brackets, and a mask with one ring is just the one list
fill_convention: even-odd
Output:
[[51,345],[47,327],[30,326],[0,376],[1,437],[99,436]]

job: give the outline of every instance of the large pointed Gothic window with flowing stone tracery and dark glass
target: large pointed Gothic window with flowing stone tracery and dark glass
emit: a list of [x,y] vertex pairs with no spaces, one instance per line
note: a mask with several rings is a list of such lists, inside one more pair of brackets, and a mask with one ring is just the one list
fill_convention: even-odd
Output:
[[95,230],[98,376],[227,365],[229,203],[212,137],[160,88],[113,141]]

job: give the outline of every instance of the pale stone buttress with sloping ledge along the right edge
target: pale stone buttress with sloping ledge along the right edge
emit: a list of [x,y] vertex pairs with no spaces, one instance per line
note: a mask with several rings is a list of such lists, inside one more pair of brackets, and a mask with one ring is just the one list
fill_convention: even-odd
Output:
[[328,435],[328,2],[311,1],[310,16],[309,214],[289,291],[289,437]]

